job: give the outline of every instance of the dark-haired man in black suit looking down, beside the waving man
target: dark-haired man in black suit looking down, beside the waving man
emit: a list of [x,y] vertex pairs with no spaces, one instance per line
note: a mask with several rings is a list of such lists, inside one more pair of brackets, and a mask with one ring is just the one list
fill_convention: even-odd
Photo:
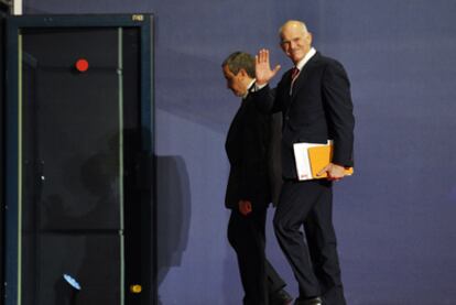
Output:
[[231,167],[225,203],[232,210],[228,240],[238,258],[245,290],[243,304],[290,304],[293,298],[283,290],[285,283],[264,254],[264,226],[271,203],[271,116],[258,111],[250,98],[249,90],[254,84],[254,57],[236,52],[221,66],[228,88],[242,98],[226,140]]

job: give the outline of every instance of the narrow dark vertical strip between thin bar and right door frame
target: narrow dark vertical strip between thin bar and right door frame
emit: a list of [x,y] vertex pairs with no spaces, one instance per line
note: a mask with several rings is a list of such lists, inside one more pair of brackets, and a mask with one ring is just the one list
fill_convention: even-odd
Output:
[[[150,270],[150,241],[141,243],[146,236],[150,237],[151,221],[143,222],[141,217],[150,215],[150,184],[148,188],[141,187],[146,177],[143,175],[144,164],[141,153],[140,126],[140,31],[134,28],[123,29],[123,123],[124,123],[124,164],[128,171],[124,175],[124,236],[126,236],[126,301],[127,304],[151,304],[143,302],[148,297],[149,286],[142,279],[141,272]],[[134,105],[135,107],[132,107]],[[151,183],[151,182],[149,182]],[[144,204],[144,199],[149,201]],[[145,230],[142,230],[145,226]],[[149,227],[149,228],[148,228]],[[148,274],[150,276],[150,274]],[[129,293],[130,285],[141,284],[142,293]]]

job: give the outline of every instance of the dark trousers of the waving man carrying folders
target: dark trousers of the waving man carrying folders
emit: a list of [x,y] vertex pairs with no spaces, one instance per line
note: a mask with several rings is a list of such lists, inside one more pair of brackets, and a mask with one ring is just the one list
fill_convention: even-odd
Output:
[[333,227],[332,183],[285,181],[273,224],[297,280],[300,298],[323,296],[324,304],[345,305]]

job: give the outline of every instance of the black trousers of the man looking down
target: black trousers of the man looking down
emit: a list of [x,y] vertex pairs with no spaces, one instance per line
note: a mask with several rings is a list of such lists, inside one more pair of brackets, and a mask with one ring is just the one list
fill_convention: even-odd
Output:
[[248,216],[234,209],[228,222],[228,240],[238,258],[245,305],[267,305],[269,295],[285,286],[265,258],[265,218],[267,207],[253,207]]

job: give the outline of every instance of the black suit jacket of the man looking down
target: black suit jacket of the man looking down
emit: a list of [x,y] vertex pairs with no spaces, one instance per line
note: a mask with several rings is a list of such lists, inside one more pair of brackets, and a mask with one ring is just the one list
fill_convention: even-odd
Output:
[[231,165],[225,204],[238,208],[240,199],[253,209],[271,201],[268,168],[271,116],[258,110],[251,94],[242,100],[229,128],[225,149]]

